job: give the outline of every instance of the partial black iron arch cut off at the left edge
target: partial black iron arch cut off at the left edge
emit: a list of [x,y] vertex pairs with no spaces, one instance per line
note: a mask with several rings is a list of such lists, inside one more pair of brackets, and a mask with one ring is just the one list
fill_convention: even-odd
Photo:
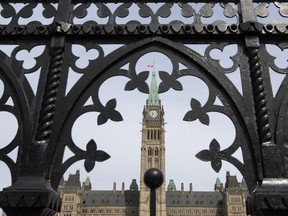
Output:
[[[1,149],[0,160],[2,160],[8,166],[11,171],[12,182],[15,182],[19,175],[16,163],[27,163],[28,152],[30,151],[30,147],[32,147],[30,146],[30,142],[32,140],[32,117],[30,116],[31,111],[28,97],[20,84],[19,79],[16,77],[16,73],[7,65],[6,61],[8,61],[8,56],[0,51],[0,78],[5,85],[3,93],[5,96],[3,97],[7,97],[7,99],[12,97],[13,99],[13,109],[6,109],[17,118],[18,132],[12,142]],[[8,88],[8,90],[6,90],[6,88]],[[5,109],[2,109],[2,111],[4,110]],[[22,141],[20,142],[19,140]],[[18,144],[19,149],[17,158],[19,158],[21,161],[14,163],[14,161],[6,154],[13,151]]]

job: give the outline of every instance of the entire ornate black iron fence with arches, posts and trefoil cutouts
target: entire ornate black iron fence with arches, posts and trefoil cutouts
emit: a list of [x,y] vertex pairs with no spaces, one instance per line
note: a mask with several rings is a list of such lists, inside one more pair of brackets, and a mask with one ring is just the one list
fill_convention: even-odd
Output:
[[[60,206],[54,190],[65,171],[78,160],[85,160],[86,170],[91,171],[95,161],[109,158],[94,140],[87,143],[86,151],[79,148],[71,137],[73,123],[87,112],[99,113],[98,125],[122,121],[117,100],[104,104],[99,89],[111,77],[124,76],[129,79],[126,91],[148,93],[148,71],[137,71],[136,64],[150,52],[166,55],[173,66],[172,72],[159,71],[160,93],[183,90],[179,78],[187,76],[199,78],[209,89],[205,104],[191,98],[184,121],[209,125],[208,113],[218,112],[235,127],[235,140],[228,148],[221,149],[214,139],[197,157],[211,162],[215,171],[221,169],[223,160],[239,169],[251,193],[248,213],[287,214],[288,67],[279,66],[279,55],[268,47],[279,52],[287,49],[288,5],[258,0],[198,3],[1,1],[0,78],[4,90],[0,109],[18,122],[15,138],[0,149],[0,160],[12,176],[12,185],[0,193],[0,206],[8,215],[20,211],[54,214]],[[109,55],[106,44],[116,47]],[[205,45],[203,53],[194,45]],[[77,61],[83,57],[73,52],[75,46],[86,53],[94,50],[97,56],[85,58],[85,66],[79,66]],[[227,58],[227,66],[212,52],[223,52],[229,46],[235,53]],[[36,52],[31,60],[34,64],[26,64],[22,52]],[[71,70],[81,78],[69,89]],[[240,88],[228,77],[237,71]],[[27,78],[32,73],[39,73],[36,89]],[[272,90],[270,73],[285,75],[277,92]],[[92,104],[85,104],[88,99]],[[13,162],[8,154],[17,147],[17,161]],[[63,161],[66,147],[74,156]],[[243,162],[233,156],[238,149]]]

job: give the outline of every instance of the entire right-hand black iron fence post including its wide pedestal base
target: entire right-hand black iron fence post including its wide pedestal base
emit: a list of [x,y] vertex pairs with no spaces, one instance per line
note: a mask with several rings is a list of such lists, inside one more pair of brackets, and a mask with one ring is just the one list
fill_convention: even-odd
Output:
[[[247,214],[252,216],[287,215],[288,182],[284,177],[284,161],[279,146],[275,142],[271,107],[268,105],[267,86],[271,82],[265,79],[260,61],[260,34],[263,24],[256,19],[253,1],[241,0],[242,23],[245,33],[245,46],[250,68],[251,88],[255,109],[255,124],[260,145],[261,168],[258,183],[246,200]],[[256,157],[256,155],[255,155]]]

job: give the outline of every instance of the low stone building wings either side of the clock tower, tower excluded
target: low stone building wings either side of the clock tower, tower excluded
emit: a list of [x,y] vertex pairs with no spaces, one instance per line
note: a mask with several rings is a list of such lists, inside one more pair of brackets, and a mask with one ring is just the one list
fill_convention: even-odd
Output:
[[[75,181],[76,179],[77,182]],[[248,194],[245,182],[226,174],[223,185],[216,180],[214,191],[177,190],[173,180],[169,181],[166,195],[166,216],[245,216],[245,198]],[[139,216],[140,190],[135,179],[129,188],[124,183],[120,190],[116,183],[111,190],[92,190],[87,178],[80,184],[80,173],[69,175],[59,187],[62,197],[61,212],[57,216]],[[158,212],[159,215],[159,212]]]

